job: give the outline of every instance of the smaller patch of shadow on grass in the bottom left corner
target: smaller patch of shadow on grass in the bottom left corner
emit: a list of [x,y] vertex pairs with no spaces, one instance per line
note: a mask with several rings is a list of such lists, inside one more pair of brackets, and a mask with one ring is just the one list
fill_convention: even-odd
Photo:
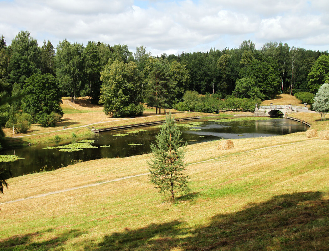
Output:
[[85,234],[80,230],[72,229],[64,231],[60,236],[47,238],[47,236],[52,236],[51,232],[53,232],[53,229],[2,239],[0,241],[0,250],[62,250],[62,246],[65,245],[66,241]]

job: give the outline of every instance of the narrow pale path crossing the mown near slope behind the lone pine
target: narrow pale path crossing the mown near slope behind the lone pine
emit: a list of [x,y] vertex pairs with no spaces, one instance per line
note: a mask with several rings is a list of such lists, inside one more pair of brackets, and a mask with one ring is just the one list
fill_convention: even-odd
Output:
[[[209,162],[209,161],[213,161],[213,160],[217,160],[217,159],[221,159],[221,158],[226,158],[226,157],[229,157],[229,156],[234,156],[234,155],[241,154],[241,153],[250,153],[250,152],[255,152],[255,151],[259,151],[259,150],[263,150],[263,149],[276,148],[276,147],[293,145],[293,144],[300,144],[300,143],[304,143],[305,141],[315,141],[315,140],[319,140],[319,139],[303,140],[303,141],[298,141],[298,142],[293,142],[293,143],[287,143],[287,144],[281,144],[281,145],[274,145],[274,146],[269,146],[269,147],[257,148],[257,149],[253,149],[253,150],[249,150],[249,151],[245,151],[245,152],[232,153],[232,154],[228,154],[228,155],[224,155],[224,156],[220,156],[220,157],[216,157],[216,158],[211,158],[211,159],[207,159],[207,160],[203,160],[203,161],[198,161],[198,162],[190,163],[190,164],[187,164],[186,166],[200,164],[200,163],[205,163],[205,162]],[[65,189],[58,190],[58,191],[37,194],[37,195],[29,196],[29,197],[26,197],[26,198],[20,198],[20,199],[13,200],[13,201],[3,202],[3,203],[0,203],[0,205],[7,204],[7,203],[19,202],[19,201],[25,201],[25,200],[29,200],[29,199],[41,198],[41,197],[45,197],[45,196],[48,196],[48,195],[53,195],[53,194],[68,192],[68,191],[77,190],[77,189],[81,189],[81,188],[87,188],[87,187],[91,187],[91,186],[98,186],[98,185],[101,185],[101,184],[106,184],[106,183],[115,182],[115,181],[122,181],[122,180],[131,179],[131,178],[135,178],[135,177],[145,176],[145,175],[148,175],[148,174],[149,173],[142,173],[142,174],[130,175],[130,176],[125,176],[125,177],[121,177],[121,178],[117,178],[117,179],[113,179],[113,180],[91,183],[91,184],[83,185],[83,186],[75,186],[75,187],[65,188]]]

